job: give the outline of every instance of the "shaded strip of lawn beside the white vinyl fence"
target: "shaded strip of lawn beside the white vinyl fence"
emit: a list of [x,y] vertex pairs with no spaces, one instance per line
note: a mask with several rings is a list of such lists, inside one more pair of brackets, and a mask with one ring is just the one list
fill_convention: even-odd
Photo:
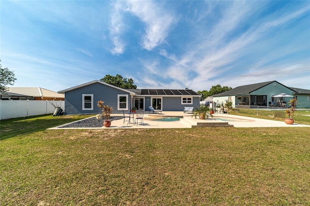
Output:
[[53,115],[48,114],[25,118],[3,119],[0,122],[0,140],[5,140],[7,138],[25,135],[32,132],[44,131],[47,128],[87,117],[89,116],[76,115],[54,117]]

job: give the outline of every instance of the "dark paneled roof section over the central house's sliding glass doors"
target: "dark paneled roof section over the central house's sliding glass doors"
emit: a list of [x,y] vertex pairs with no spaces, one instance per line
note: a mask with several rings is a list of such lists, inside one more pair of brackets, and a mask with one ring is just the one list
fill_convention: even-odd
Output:
[[201,96],[201,94],[193,91],[192,89],[127,89],[135,92],[137,95],[154,95],[154,96],[166,96],[166,95],[186,95],[186,96]]

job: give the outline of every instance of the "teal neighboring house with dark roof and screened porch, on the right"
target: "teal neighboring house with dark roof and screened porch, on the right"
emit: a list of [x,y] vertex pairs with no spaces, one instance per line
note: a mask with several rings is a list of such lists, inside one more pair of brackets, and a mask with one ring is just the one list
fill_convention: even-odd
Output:
[[[238,105],[238,108],[269,107],[269,103],[279,101],[279,98],[274,98],[273,96],[279,95],[280,93],[294,96],[298,101],[297,107],[310,108],[310,90],[289,88],[277,81],[239,86],[214,95],[213,102],[225,104],[226,101],[232,101],[233,107],[235,107],[234,105]],[[289,106],[289,100],[290,97],[284,99],[287,107]]]

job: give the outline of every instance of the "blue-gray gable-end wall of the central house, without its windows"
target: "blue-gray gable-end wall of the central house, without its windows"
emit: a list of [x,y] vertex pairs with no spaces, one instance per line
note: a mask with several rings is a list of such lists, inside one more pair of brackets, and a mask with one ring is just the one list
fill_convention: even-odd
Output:
[[[93,109],[83,110],[83,94],[93,94]],[[109,86],[94,83],[85,87],[76,88],[65,92],[65,114],[98,114],[101,109],[97,106],[97,102],[102,100],[105,105],[113,107],[112,114],[121,114],[122,110],[117,110],[117,98],[119,94],[128,95],[128,110],[131,106],[130,94],[128,92],[111,88]]]

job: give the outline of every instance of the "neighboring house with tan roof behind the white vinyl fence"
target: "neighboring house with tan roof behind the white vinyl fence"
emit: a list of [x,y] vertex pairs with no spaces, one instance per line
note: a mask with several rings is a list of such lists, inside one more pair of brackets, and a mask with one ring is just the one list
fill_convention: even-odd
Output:
[[7,91],[19,95],[26,95],[32,97],[33,100],[64,100],[63,94],[59,94],[55,91],[40,87],[10,87],[7,89]]

